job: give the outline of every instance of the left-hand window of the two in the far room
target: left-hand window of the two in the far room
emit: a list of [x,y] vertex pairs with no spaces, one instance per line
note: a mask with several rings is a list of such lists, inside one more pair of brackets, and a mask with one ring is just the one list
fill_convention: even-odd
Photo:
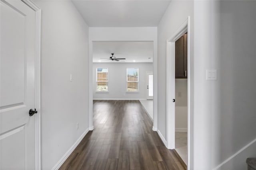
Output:
[[96,91],[108,92],[108,68],[96,69]]

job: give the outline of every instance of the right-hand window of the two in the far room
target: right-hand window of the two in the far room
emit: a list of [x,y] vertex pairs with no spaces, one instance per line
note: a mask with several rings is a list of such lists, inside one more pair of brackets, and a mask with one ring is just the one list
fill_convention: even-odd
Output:
[[138,92],[139,69],[127,68],[127,92]]

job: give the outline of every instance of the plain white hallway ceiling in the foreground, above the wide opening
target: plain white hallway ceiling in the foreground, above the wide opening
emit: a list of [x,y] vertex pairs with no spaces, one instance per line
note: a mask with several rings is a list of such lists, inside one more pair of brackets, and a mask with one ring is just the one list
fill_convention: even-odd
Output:
[[73,0],[89,27],[152,27],[170,0]]

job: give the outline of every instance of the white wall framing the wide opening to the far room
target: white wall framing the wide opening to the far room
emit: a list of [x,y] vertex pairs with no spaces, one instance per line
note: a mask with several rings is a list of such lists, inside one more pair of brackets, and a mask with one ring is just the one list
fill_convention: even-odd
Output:
[[[157,27],[90,27],[89,28],[89,82],[92,78],[92,53],[94,41],[153,41],[153,72],[154,72],[154,122],[153,129],[157,127]],[[89,127],[92,126],[92,99],[93,86],[89,84]]]

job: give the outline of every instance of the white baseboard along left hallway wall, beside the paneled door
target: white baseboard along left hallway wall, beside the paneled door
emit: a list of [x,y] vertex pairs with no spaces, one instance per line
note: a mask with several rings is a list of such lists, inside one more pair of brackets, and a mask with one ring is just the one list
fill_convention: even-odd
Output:
[[70,154],[76,149],[77,145],[82,141],[85,135],[88,133],[89,128],[87,128],[84,133],[77,139],[77,141],[71,146],[70,149],[62,156],[62,158],[57,162],[57,164],[52,168],[52,170],[58,170],[60,166],[65,162],[65,160],[70,156]]

